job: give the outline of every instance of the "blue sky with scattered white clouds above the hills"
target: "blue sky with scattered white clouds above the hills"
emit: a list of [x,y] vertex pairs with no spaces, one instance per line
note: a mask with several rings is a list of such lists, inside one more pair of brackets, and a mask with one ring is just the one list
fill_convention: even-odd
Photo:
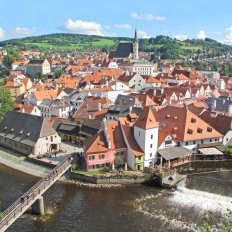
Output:
[[231,0],[1,0],[0,41],[52,33],[178,40],[210,38],[232,45]]

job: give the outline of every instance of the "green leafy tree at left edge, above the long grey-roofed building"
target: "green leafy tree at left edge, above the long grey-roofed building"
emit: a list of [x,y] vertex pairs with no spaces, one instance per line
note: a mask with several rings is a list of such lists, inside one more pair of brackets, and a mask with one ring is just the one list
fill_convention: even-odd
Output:
[[12,110],[14,102],[8,89],[0,89],[0,121],[5,117],[6,113]]

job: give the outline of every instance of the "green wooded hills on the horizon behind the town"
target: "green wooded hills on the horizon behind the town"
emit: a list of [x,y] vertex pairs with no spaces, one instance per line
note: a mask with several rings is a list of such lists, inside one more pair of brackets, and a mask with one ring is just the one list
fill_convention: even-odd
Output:
[[[132,41],[127,37],[104,37],[82,34],[49,34],[12,39],[0,42],[0,47],[13,46],[20,50],[52,51],[105,51],[115,50],[120,41]],[[232,46],[206,38],[179,41],[168,36],[139,39],[139,51],[152,52],[161,59],[178,59],[203,54],[213,58],[232,54]]]

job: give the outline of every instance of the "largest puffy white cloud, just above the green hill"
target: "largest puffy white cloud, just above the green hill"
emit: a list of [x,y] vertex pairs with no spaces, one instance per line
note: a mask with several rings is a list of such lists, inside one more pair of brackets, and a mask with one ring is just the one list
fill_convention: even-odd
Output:
[[103,35],[102,26],[99,23],[87,22],[82,20],[73,21],[67,19],[64,22],[65,30],[87,35]]

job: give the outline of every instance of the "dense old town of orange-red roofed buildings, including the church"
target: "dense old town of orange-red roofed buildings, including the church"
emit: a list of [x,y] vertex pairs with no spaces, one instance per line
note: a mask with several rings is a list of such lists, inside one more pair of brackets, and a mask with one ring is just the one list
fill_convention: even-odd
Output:
[[[2,61],[6,55],[2,48]],[[69,143],[73,151],[82,149],[76,168],[86,172],[170,170],[193,156],[229,154],[230,77],[210,67],[158,67],[139,51],[136,30],[133,41],[105,56],[41,57],[20,51],[21,60],[11,64],[1,107],[8,95],[14,107],[2,117],[1,146],[39,160],[59,155]]]

